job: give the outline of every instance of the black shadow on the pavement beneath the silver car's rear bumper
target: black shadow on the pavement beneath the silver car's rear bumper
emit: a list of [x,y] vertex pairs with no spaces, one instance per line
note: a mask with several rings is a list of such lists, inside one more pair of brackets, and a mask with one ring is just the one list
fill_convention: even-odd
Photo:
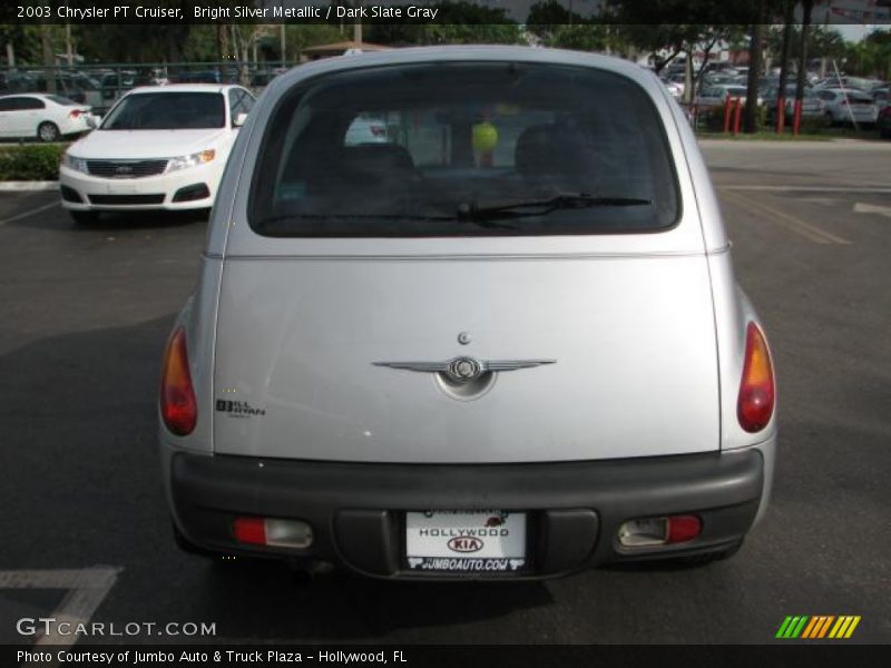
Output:
[[[200,609],[239,638],[364,640],[472,625],[554,603],[544,582],[404,582],[345,570],[311,577],[281,562],[207,564]],[[462,628],[454,641],[483,642]],[[498,641],[490,639],[489,641]]]

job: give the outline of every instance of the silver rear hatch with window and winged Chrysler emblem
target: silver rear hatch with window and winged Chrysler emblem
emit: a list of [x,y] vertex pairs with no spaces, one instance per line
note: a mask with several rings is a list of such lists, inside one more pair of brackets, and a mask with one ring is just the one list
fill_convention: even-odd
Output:
[[[315,97],[296,86],[246,169],[214,450],[408,463],[716,450],[709,277],[667,111],[598,70],[381,69]],[[412,96],[379,101],[407,76]],[[306,97],[326,111],[302,116]],[[386,119],[386,143],[344,144],[363,117]]]

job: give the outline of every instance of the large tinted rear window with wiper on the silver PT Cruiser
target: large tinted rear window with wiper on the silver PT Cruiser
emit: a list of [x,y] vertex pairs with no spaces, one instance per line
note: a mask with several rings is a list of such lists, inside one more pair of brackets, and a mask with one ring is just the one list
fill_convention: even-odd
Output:
[[267,236],[584,235],[674,225],[662,120],[593,68],[459,62],[329,75],[265,128],[249,223]]

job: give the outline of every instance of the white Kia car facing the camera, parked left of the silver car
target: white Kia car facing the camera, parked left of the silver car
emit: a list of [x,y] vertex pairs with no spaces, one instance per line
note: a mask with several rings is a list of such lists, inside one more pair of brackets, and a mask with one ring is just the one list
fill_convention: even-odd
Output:
[[66,151],[62,206],[77,223],[111,210],[209,208],[253,106],[239,86],[135,88]]

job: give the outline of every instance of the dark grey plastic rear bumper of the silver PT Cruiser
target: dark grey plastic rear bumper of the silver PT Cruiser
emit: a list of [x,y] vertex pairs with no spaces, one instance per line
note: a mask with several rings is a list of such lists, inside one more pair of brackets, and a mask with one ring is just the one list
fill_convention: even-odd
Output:
[[[754,448],[505,465],[168,454],[166,474],[174,519],[195,544],[229,554],[336,562],[382,578],[418,577],[403,569],[405,510],[526,511],[531,569],[523,577],[541,578],[610,562],[727,548],[748,531],[762,498],[766,500],[764,458]],[[681,513],[699,515],[703,532],[698,538],[672,547],[636,549],[620,546],[616,538],[627,520]],[[312,524],[315,540],[305,550],[241,544],[232,537],[236,515],[301,519]],[[423,573],[424,579],[431,577],[437,576]]]

